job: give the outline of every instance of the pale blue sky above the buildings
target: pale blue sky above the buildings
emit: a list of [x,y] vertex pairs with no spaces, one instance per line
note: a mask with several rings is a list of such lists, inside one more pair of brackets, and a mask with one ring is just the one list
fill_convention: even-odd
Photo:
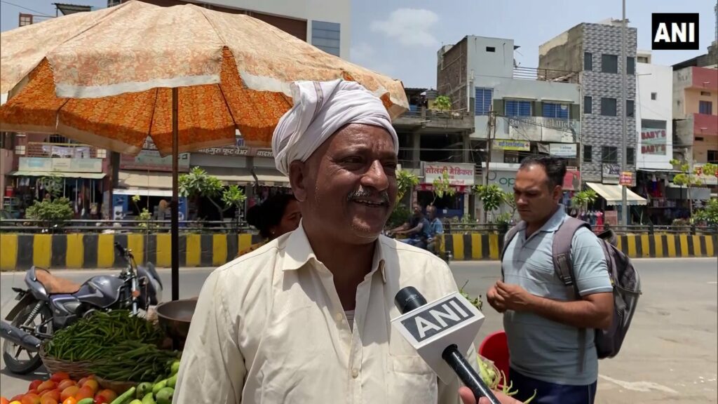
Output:
[[[55,15],[52,0],[0,0],[0,29],[17,27],[21,5]],[[211,0],[210,0],[211,1]],[[291,0],[286,0],[291,1]],[[70,1],[65,1],[70,2]],[[74,0],[101,8],[106,0]],[[353,0],[350,60],[404,81],[435,87],[437,50],[465,35],[513,39],[516,62],[538,65],[538,45],[581,22],[620,19],[620,0]],[[715,37],[716,0],[627,0],[626,17],[638,28],[638,48],[651,49],[651,13],[700,14],[700,50],[653,52],[653,63],[671,65],[706,52]]]

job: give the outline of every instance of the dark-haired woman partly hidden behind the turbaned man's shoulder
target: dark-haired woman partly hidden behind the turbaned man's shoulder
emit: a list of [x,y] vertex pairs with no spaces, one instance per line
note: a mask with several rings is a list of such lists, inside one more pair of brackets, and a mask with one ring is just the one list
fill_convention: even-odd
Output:
[[302,219],[297,199],[290,193],[277,193],[264,203],[247,210],[247,223],[259,231],[262,241],[243,249],[237,257],[252,252],[283,234],[294,231]]

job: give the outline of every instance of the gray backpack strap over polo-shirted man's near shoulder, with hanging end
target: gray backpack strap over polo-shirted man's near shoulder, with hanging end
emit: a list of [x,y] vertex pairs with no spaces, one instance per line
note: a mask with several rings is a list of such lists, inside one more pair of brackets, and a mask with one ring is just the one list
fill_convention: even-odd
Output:
[[[571,259],[571,243],[574,234],[578,229],[591,226],[585,221],[567,217],[564,223],[554,233],[554,244],[552,251],[554,253],[554,268],[556,275],[559,276],[561,282],[564,283],[567,295],[573,300],[581,298],[579,288],[576,284],[574,276],[574,263]],[[583,372],[584,359],[586,357],[586,329],[579,329],[579,372]]]

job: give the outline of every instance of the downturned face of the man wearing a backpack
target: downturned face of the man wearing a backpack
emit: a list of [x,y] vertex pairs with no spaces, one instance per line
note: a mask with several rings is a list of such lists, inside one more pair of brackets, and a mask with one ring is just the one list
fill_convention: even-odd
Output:
[[513,198],[521,219],[526,223],[535,223],[554,213],[561,198],[561,187],[549,186],[549,177],[544,167],[530,165],[516,173]]

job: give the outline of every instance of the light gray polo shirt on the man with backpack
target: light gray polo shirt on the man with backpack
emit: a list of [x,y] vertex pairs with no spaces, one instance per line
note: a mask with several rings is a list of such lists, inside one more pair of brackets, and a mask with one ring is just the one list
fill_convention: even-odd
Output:
[[[559,206],[551,219],[526,239],[521,229],[503,258],[505,283],[521,285],[529,293],[554,300],[569,295],[554,270],[554,233],[569,217]],[[571,243],[574,274],[581,295],[610,292],[606,262],[598,238],[579,229]],[[598,359],[592,329],[586,332],[583,372],[579,372],[579,329],[526,311],[506,311],[503,326],[508,337],[510,365],[521,374],[561,385],[589,385],[598,377]]]

